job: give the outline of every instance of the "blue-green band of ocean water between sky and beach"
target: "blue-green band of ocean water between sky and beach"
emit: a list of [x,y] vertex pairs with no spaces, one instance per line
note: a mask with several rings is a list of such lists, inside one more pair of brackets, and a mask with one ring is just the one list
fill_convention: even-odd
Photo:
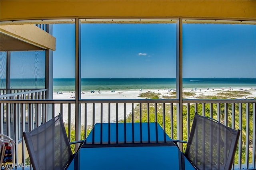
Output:
[[[183,88],[256,88],[256,78],[183,78]],[[1,88],[5,80],[1,79]],[[11,79],[11,88],[44,88],[44,79]],[[54,91],[74,91],[74,78],[54,78]],[[176,89],[176,78],[82,78],[82,91]]]

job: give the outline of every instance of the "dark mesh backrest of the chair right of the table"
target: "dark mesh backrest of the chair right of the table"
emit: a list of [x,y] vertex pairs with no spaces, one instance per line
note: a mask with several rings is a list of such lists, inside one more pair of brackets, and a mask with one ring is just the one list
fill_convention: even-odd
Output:
[[240,130],[195,114],[185,155],[203,170],[230,170]]

